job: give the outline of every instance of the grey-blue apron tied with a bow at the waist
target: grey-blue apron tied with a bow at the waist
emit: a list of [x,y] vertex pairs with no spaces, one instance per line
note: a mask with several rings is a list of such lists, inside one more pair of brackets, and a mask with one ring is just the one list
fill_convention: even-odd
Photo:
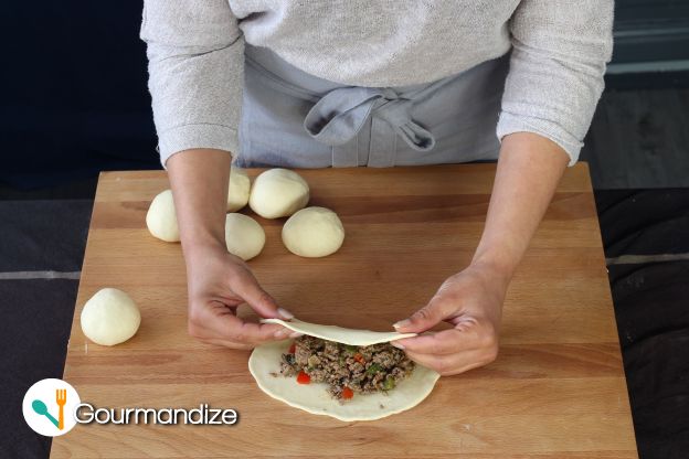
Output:
[[494,160],[508,56],[437,82],[358,87],[246,45],[240,167],[393,167]]

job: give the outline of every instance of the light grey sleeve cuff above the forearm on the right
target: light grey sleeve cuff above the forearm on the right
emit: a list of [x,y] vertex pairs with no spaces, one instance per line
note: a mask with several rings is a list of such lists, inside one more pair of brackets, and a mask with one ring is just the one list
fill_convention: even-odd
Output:
[[497,128],[498,139],[502,141],[505,136],[515,132],[538,134],[558,143],[570,157],[570,167],[576,164],[579,153],[584,146],[583,142],[556,122],[542,118],[513,115],[508,111],[500,113]]

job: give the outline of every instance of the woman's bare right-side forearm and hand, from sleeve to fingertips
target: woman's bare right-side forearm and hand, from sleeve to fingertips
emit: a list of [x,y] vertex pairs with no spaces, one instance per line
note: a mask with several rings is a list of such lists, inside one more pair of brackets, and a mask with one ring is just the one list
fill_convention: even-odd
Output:
[[398,322],[421,333],[441,321],[455,325],[394,341],[407,355],[443,375],[492,362],[507,286],[543,217],[569,156],[531,132],[505,136],[481,239],[468,268],[443,284],[428,305]]

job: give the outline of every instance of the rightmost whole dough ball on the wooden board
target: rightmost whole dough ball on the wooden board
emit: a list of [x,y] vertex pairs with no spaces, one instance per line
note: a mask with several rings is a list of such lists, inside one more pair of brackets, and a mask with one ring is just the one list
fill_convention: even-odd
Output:
[[289,252],[303,257],[325,257],[336,253],[344,241],[342,222],[325,207],[306,207],[283,226],[283,243]]

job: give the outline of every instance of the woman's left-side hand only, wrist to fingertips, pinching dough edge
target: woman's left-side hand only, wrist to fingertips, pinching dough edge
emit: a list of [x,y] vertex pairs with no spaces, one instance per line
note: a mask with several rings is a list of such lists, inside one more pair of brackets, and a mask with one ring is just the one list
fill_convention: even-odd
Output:
[[244,322],[236,309],[246,302],[263,318],[292,319],[261,288],[248,266],[220,244],[184,250],[189,287],[189,334],[205,343],[252,349],[273,340],[297,337],[282,325]]

